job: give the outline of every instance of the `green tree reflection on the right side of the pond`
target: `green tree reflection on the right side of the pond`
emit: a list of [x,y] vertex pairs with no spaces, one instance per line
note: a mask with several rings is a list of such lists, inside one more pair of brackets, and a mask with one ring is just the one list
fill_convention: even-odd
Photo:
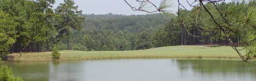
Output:
[[256,65],[231,60],[187,60],[177,59],[181,73],[192,73],[199,77],[215,81],[255,81]]

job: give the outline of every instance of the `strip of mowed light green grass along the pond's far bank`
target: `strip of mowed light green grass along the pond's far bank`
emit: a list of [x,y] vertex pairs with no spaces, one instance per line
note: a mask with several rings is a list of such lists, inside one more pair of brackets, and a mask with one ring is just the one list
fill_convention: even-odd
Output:
[[[74,51],[61,50],[61,61],[129,58],[195,58],[195,59],[239,59],[235,50],[228,46],[169,46],[148,50],[128,51]],[[242,51],[244,53],[245,51]],[[17,61],[17,54],[9,54],[9,61]],[[52,61],[51,52],[23,53],[22,62]]]

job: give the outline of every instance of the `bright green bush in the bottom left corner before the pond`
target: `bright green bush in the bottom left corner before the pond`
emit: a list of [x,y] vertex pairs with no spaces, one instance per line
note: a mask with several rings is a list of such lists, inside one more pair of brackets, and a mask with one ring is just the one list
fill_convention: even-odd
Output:
[[7,65],[0,66],[0,81],[23,81],[21,77],[15,77],[12,73],[12,68]]

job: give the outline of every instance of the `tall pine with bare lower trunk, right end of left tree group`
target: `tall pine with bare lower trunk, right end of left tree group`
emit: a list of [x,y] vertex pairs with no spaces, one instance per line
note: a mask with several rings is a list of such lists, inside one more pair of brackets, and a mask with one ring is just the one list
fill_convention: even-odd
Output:
[[82,11],[78,10],[78,6],[74,6],[73,0],[64,0],[64,3],[60,3],[55,11],[58,15],[58,36],[67,40],[67,48],[71,50],[70,35],[72,30],[81,30],[81,24],[84,19],[81,14]]

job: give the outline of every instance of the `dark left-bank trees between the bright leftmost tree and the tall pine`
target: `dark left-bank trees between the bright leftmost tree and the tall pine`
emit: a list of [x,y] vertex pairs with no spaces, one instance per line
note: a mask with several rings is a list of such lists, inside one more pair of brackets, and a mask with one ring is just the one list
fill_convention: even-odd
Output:
[[[41,52],[41,47],[49,49],[49,40],[53,39],[54,31],[51,23],[53,17],[52,4],[55,0],[1,0],[0,10],[9,14],[9,20],[14,20],[15,52]],[[12,27],[10,27],[12,28]]]

